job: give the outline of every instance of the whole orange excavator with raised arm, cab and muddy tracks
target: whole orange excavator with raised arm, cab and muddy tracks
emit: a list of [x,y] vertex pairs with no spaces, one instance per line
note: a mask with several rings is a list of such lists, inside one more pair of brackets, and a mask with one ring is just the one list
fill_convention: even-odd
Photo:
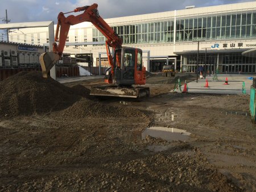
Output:
[[[98,5],[77,7],[71,12],[84,11],[80,15],[69,15],[67,18],[60,12],[55,33],[53,51],[40,55],[43,77],[47,78],[49,70],[56,64],[63,54],[69,28],[72,25],[91,22],[106,37],[106,53],[110,68],[105,73],[104,86],[93,86],[91,95],[143,98],[150,94],[146,84],[146,68],[142,65],[142,50],[138,48],[122,47],[122,40],[114,30],[98,14]],[[59,39],[59,44],[56,43]],[[112,47],[114,55],[110,53]]]

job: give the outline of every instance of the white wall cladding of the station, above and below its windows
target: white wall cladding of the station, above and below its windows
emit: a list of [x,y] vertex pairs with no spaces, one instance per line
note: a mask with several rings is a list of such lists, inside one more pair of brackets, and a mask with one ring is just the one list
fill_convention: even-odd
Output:
[[[100,5],[99,5],[100,6]],[[174,20],[176,18],[195,18],[197,16],[208,16],[208,15],[221,15],[221,14],[230,14],[239,13],[239,12],[250,12],[256,10],[256,2],[245,2],[245,3],[235,3],[230,5],[220,5],[220,6],[210,6],[210,7],[199,7],[195,9],[187,9],[187,10],[176,10],[176,11],[166,11],[166,12],[157,12],[152,14],[143,14],[143,15],[133,15],[133,16],[123,16],[119,18],[110,18],[105,19],[106,23],[110,26],[121,26],[127,24],[135,24],[135,23],[148,23],[155,21],[163,21],[163,20]],[[175,15],[176,14],[176,15]],[[57,16],[57,15],[56,15]],[[56,28],[56,26],[55,26]],[[84,30],[86,30],[87,41],[93,41],[92,29],[94,26],[92,23],[84,22],[77,24],[75,26],[71,26],[71,30],[69,31],[69,42],[75,42],[75,36],[78,36],[80,42],[84,42]],[[38,38],[40,39],[40,44],[43,45],[46,43],[46,39],[48,36],[47,27],[40,28],[27,28],[20,29],[17,32],[22,31],[24,34],[27,34],[26,39],[27,43],[31,43],[31,36],[34,36],[34,44],[37,44]],[[20,32],[20,34],[22,34]],[[24,43],[24,36],[18,34],[13,35],[13,41],[15,39],[19,39],[20,43]],[[38,36],[39,35],[39,36]],[[222,49],[221,45],[223,43],[244,43],[244,44],[256,44],[254,39],[231,39],[231,40],[207,40],[206,42],[200,42],[200,49],[209,48],[214,44],[220,44],[218,49]],[[175,45],[174,45],[175,44]],[[125,45],[126,46],[126,45]],[[138,47],[143,51],[150,51],[151,56],[172,56],[175,55],[174,52],[182,52],[182,51],[192,51],[197,50],[197,42],[192,41],[181,41],[181,42],[172,42],[172,43],[159,43],[159,44],[135,44],[135,45],[127,45],[127,47]],[[256,46],[255,46],[256,47]],[[255,48],[255,47],[243,47],[243,48]],[[101,47],[93,47],[92,45],[88,45],[87,47],[82,46],[81,48],[75,49],[74,46],[69,46],[64,49],[65,53],[93,53],[93,58],[96,60],[98,57],[98,52],[106,52],[105,46]],[[102,56],[104,57],[104,56]],[[96,62],[95,62],[96,63]]]

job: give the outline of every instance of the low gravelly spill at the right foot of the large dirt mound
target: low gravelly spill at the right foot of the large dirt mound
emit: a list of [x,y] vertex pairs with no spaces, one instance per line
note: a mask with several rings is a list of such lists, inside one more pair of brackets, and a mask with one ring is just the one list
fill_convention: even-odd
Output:
[[137,117],[143,116],[144,112],[136,108],[106,105],[91,101],[88,98],[81,98],[80,101],[77,101],[72,106],[60,111],[59,115],[73,118],[107,118],[109,116]]

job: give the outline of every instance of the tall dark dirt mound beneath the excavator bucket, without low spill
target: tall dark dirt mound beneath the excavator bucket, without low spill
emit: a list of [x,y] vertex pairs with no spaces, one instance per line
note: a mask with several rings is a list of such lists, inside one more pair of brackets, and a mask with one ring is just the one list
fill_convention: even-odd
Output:
[[0,115],[31,115],[61,110],[78,99],[72,90],[40,72],[20,72],[0,82]]

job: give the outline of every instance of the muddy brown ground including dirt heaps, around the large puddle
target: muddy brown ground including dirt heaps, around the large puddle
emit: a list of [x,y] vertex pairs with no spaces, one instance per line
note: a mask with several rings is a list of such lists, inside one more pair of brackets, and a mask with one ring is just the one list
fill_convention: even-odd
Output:
[[[140,102],[89,97],[103,80],[0,82],[0,191],[256,191],[249,95],[173,93],[176,79],[148,74]],[[142,139],[152,126],[191,136]]]

